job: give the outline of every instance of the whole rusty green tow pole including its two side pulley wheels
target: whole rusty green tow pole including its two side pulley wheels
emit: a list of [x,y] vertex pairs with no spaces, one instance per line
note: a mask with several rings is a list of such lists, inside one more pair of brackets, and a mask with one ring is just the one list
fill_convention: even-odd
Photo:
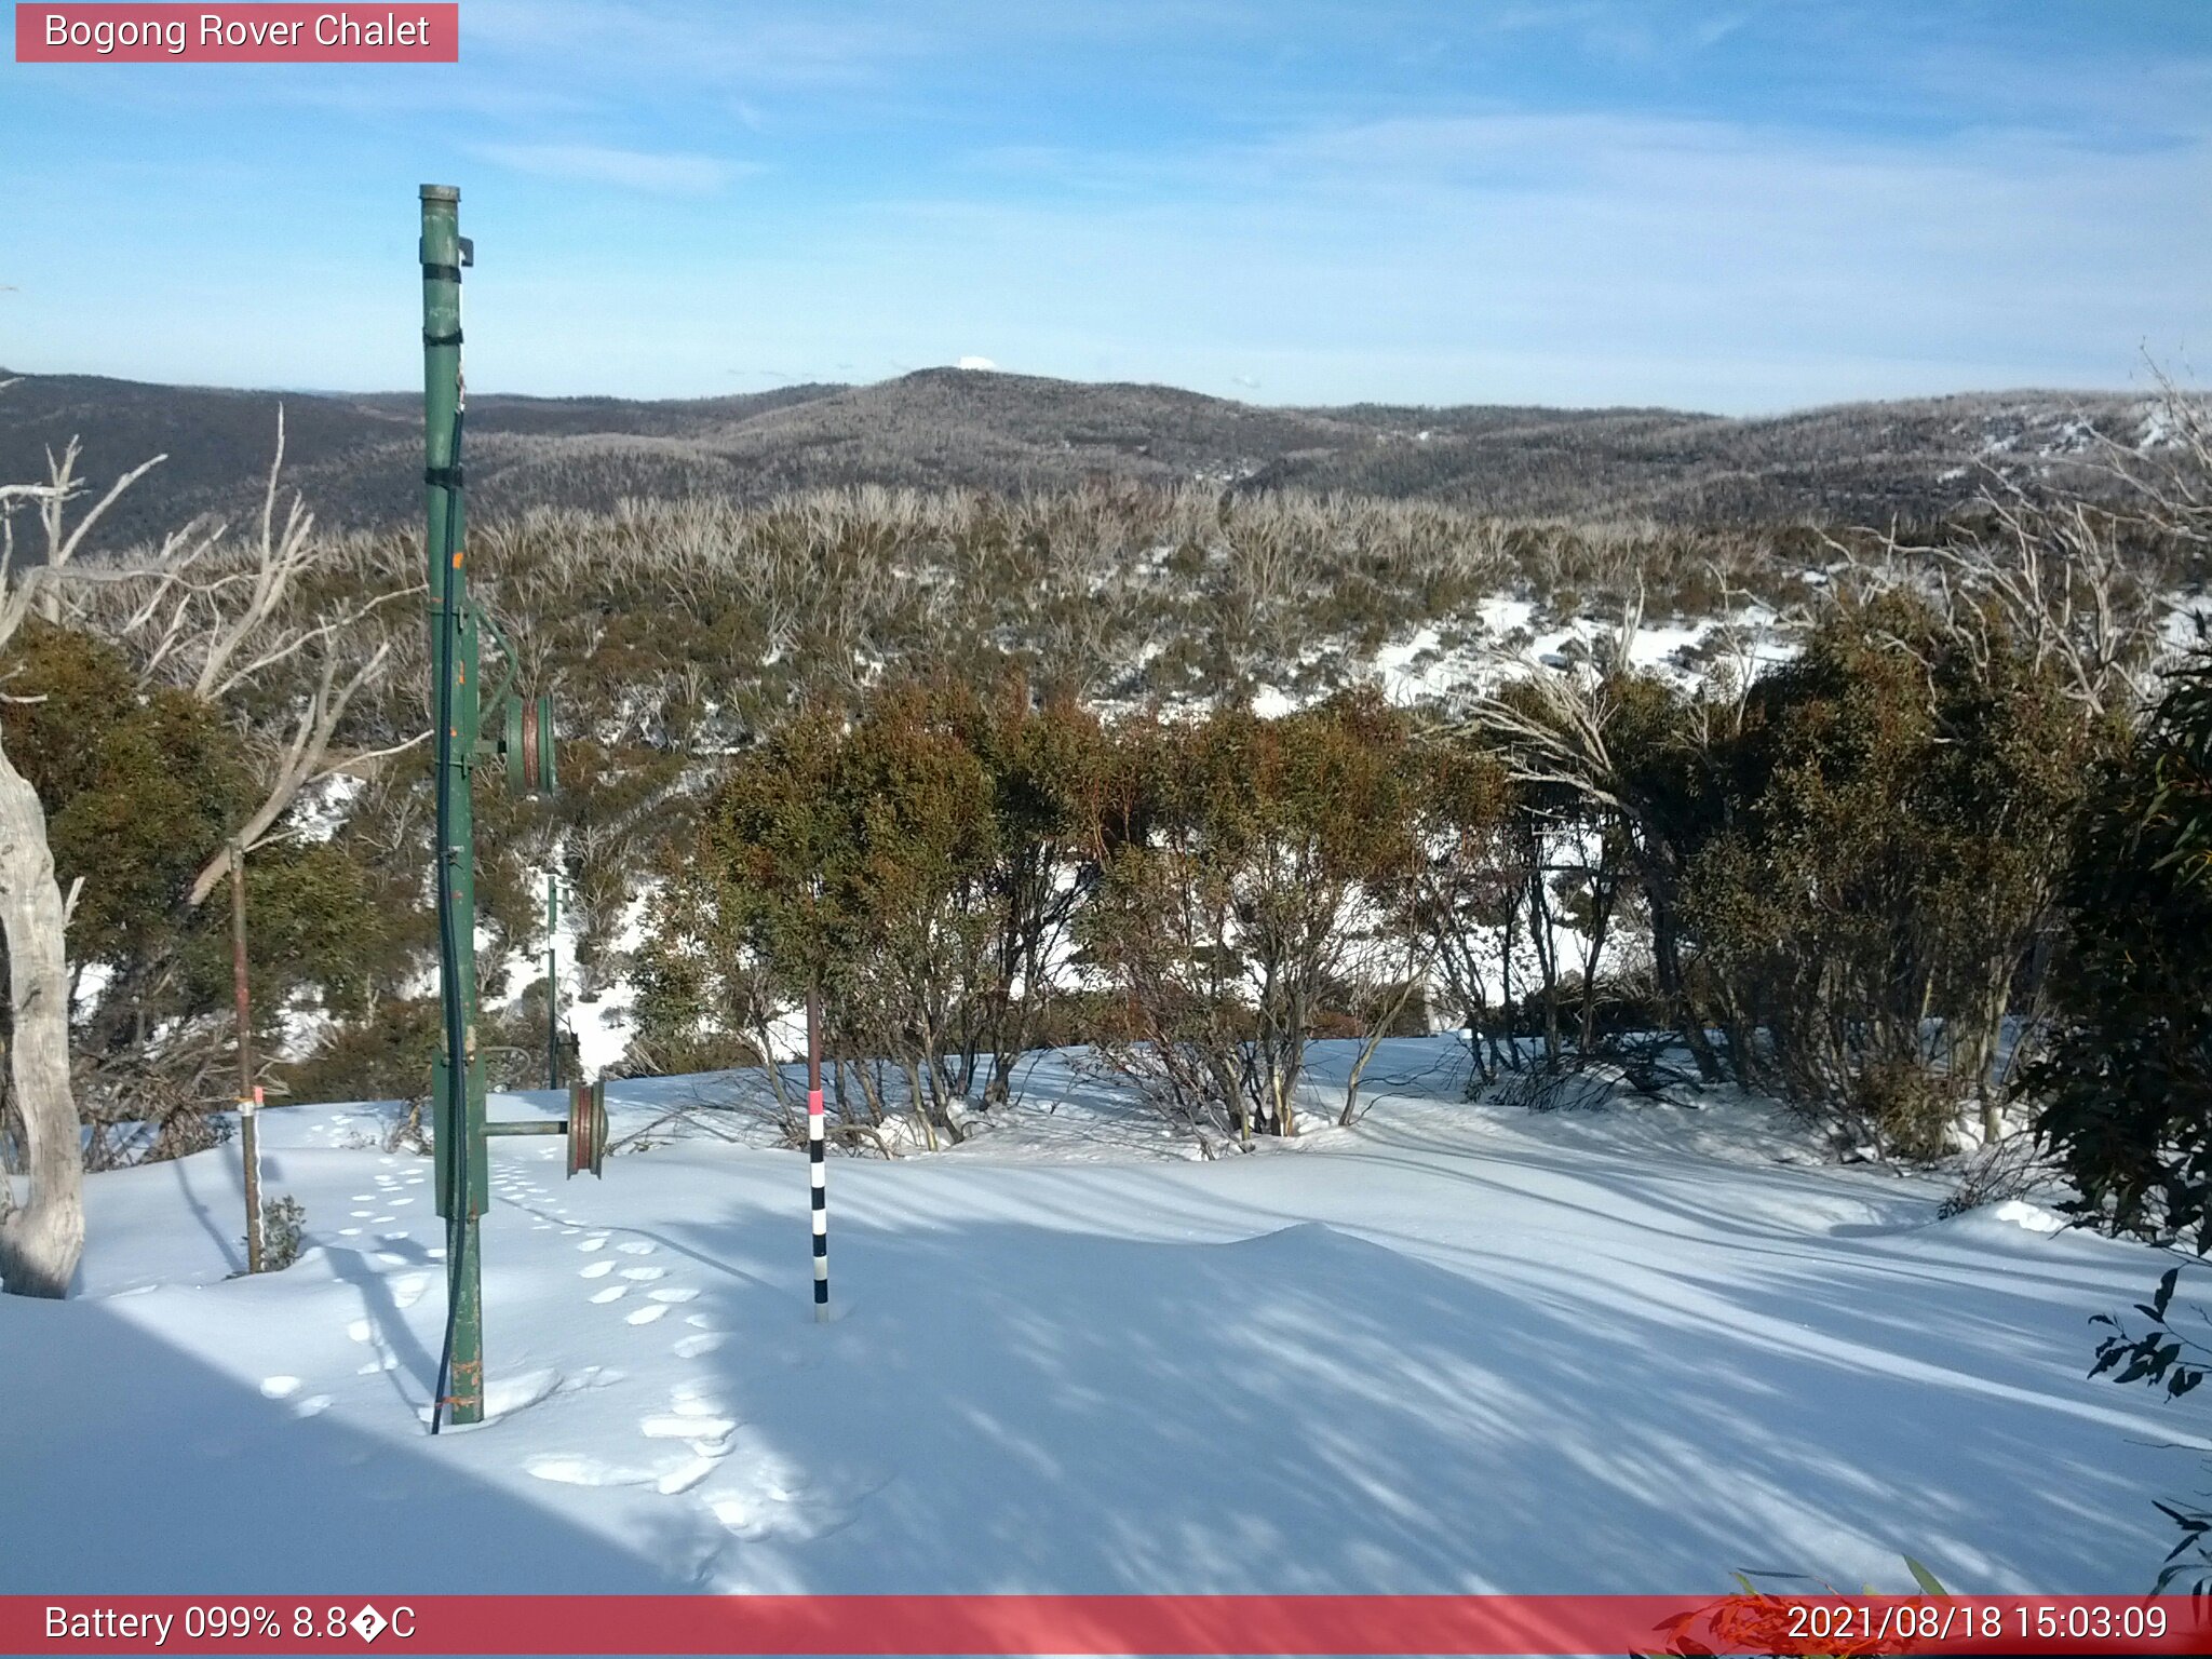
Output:
[[[504,761],[507,781],[553,792],[553,701],[515,692],[515,650],[489,613],[469,604],[460,427],[460,272],[473,248],[460,234],[460,190],[422,186],[422,498],[429,562],[431,732],[438,792],[438,989],[442,1040],[431,1077],[438,1214],[445,1217],[447,1314],[429,1431],[484,1420],[484,1263],[480,1221],[491,1208],[487,1137],[566,1135],[568,1175],[599,1175],[606,1091],[575,1084],[566,1119],[484,1119],[484,1060],[476,1044],[476,816],[478,759]],[[484,697],[482,635],[500,650],[500,684]],[[487,706],[489,703],[489,706]],[[484,728],[498,732],[484,741]]]

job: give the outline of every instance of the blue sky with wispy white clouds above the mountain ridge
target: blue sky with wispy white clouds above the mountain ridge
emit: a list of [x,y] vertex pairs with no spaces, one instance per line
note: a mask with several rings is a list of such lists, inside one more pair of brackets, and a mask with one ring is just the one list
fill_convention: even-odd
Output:
[[0,363],[414,385],[422,181],[462,186],[493,392],[984,356],[1256,403],[1752,414],[2212,358],[2199,0],[460,20],[458,66],[0,64]]

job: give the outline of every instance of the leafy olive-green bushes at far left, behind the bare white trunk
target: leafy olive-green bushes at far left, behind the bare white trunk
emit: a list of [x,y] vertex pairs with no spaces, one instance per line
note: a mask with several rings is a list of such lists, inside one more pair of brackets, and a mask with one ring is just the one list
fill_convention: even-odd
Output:
[[[250,734],[181,686],[144,686],[82,628],[29,624],[7,661],[0,741],[46,810],[69,918],[71,1055],[86,1168],[212,1146],[234,1097],[228,905],[190,905],[263,801]],[[299,993],[365,1011],[389,918],[352,836],[283,836],[246,865],[259,1055]],[[542,1029],[540,1020],[540,1029]],[[409,1079],[400,1093],[414,1093]]]

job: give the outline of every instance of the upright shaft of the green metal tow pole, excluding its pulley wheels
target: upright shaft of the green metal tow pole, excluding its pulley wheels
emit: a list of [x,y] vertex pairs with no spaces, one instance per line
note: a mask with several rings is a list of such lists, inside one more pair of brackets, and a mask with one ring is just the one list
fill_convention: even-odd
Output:
[[[484,1418],[482,1256],[478,1219],[489,1203],[484,1075],[476,1057],[476,770],[478,628],[467,604],[460,489],[460,190],[422,186],[422,465],[429,566],[431,719],[438,739],[438,931],[445,1040],[436,1077],[438,1212],[447,1217],[451,1323],[445,1400],[451,1422]],[[451,611],[449,611],[451,602]],[[449,688],[449,692],[447,692]],[[456,1037],[460,1053],[456,1055]]]

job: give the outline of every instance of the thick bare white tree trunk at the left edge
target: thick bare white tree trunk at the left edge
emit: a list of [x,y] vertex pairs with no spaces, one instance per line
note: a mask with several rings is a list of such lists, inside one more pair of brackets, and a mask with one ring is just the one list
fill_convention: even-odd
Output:
[[0,1287],[15,1296],[66,1296],[84,1254],[84,1148],[69,1084],[66,927],[69,911],[46,849],[46,810],[0,750],[0,929],[13,998],[9,1068],[31,1175],[22,1206],[0,1201]]

